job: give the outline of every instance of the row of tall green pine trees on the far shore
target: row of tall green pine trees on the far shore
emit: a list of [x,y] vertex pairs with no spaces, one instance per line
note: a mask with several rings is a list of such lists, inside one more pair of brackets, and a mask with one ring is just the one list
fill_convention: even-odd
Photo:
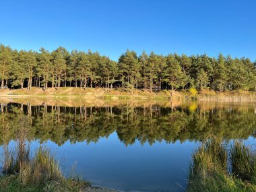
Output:
[[250,59],[204,55],[137,55],[127,50],[113,61],[92,51],[67,51],[59,46],[17,51],[0,44],[0,82],[3,88],[123,88],[215,91],[256,90],[256,63]]

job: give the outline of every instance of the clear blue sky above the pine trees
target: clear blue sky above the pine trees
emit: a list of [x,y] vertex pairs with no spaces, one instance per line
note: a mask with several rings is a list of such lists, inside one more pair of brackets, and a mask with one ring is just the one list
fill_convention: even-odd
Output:
[[256,59],[255,0],[1,0],[0,7],[0,43],[13,49]]

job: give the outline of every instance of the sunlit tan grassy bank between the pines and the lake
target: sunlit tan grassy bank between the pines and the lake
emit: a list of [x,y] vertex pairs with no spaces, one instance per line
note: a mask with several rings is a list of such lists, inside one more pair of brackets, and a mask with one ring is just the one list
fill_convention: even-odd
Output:
[[256,102],[256,92],[250,91],[228,91],[214,92],[212,90],[201,90],[197,92],[195,89],[174,91],[161,90],[150,92],[150,90],[134,90],[129,89],[107,89],[107,88],[32,88],[31,90],[0,90],[0,97],[84,97],[86,99],[103,98],[110,100],[117,99],[170,99],[176,100],[202,100],[202,101],[221,101],[221,102]]

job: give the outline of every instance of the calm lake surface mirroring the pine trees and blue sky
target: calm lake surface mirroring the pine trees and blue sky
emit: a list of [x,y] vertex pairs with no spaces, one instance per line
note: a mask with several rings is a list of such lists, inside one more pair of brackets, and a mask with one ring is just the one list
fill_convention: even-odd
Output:
[[[255,143],[256,105],[169,100],[1,98],[0,143],[26,127],[68,176],[122,191],[185,191],[191,154],[216,135]],[[3,152],[3,148],[1,148]]]

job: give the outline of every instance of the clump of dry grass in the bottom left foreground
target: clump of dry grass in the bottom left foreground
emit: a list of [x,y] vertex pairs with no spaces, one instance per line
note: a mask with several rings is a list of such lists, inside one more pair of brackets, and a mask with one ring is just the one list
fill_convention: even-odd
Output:
[[40,147],[31,158],[29,149],[20,143],[5,156],[0,191],[81,191],[90,186],[78,177],[65,179],[49,150]]

